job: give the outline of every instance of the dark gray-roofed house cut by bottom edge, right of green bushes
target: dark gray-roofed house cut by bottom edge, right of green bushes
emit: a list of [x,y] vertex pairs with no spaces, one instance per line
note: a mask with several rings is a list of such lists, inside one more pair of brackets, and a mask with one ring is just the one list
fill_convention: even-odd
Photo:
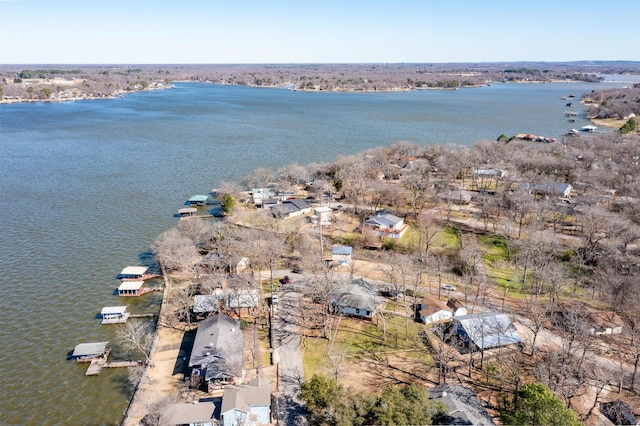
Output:
[[447,406],[446,414],[433,419],[434,425],[495,426],[473,389],[448,383],[438,385],[429,389],[429,400],[441,401]]

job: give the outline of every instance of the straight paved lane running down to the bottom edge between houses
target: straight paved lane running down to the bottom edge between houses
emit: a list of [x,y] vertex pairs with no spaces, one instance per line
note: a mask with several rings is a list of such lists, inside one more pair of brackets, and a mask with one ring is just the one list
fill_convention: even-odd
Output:
[[272,339],[274,361],[280,371],[280,422],[284,425],[307,425],[306,409],[299,399],[304,379],[302,369],[301,338],[298,325],[301,293],[288,285],[279,291],[278,305],[274,306]]

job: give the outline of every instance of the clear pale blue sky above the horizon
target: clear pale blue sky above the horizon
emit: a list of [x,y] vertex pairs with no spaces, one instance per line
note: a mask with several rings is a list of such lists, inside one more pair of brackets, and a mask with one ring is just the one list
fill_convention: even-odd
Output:
[[640,0],[0,0],[0,64],[640,61]]

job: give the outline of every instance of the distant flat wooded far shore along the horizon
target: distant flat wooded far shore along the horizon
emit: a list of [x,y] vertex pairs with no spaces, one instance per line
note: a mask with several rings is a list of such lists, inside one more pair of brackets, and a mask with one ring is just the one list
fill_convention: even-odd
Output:
[[0,103],[103,99],[200,81],[307,91],[458,89],[497,82],[600,81],[638,62],[469,64],[1,65]]

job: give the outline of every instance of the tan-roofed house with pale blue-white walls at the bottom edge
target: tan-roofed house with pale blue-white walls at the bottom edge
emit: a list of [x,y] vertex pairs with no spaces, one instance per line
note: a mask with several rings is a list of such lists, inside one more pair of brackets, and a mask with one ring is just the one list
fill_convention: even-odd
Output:
[[271,384],[260,378],[224,388],[220,423],[223,426],[266,425],[271,421]]

